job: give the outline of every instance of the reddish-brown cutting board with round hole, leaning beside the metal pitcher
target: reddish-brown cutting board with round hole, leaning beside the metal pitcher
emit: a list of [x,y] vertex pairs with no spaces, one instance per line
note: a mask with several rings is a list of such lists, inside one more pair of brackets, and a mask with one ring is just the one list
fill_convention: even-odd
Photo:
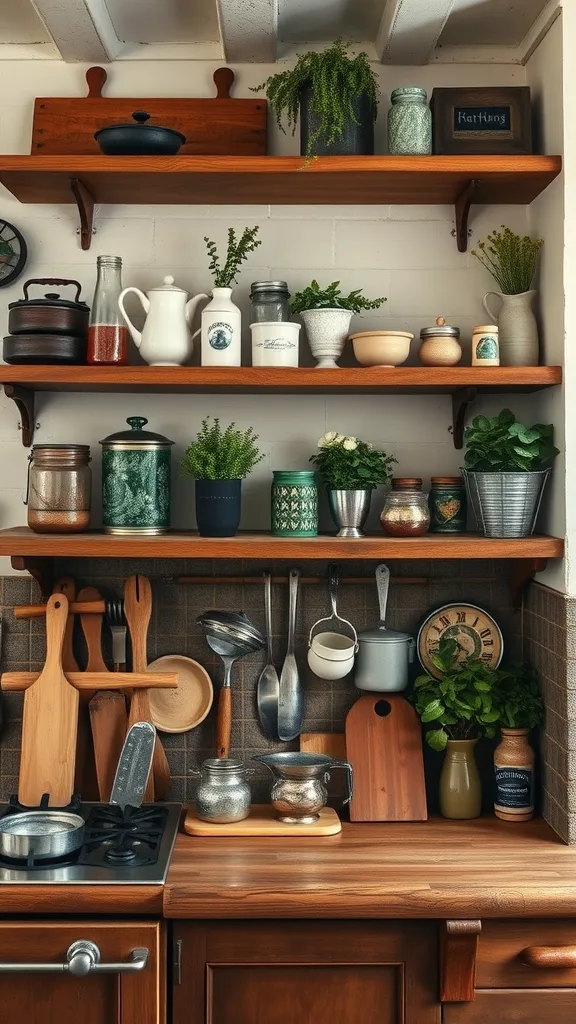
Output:
[[422,730],[412,706],[394,693],[360,697],[345,735],[354,768],[351,821],[425,821]]

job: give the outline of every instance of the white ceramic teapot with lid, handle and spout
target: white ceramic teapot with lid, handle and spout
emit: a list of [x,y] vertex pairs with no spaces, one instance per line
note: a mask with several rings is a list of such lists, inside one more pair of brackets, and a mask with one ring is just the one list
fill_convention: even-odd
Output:
[[[124,308],[124,298],[130,292],[137,295],[145,312],[146,324],[141,333],[136,330]],[[151,288],[148,296],[139,288],[125,288],[120,293],[118,306],[139,353],[151,367],[181,367],[194,350],[191,325],[196,307],[203,293],[188,298],[188,292],[176,288],[173,278],[164,278],[159,288]],[[187,301],[188,300],[188,301]]]

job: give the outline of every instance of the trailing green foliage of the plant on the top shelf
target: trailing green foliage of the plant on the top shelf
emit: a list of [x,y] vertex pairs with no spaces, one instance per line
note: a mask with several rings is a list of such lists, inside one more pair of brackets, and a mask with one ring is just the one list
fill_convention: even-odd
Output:
[[358,53],[356,56],[351,56],[349,46],[349,42],[336,39],[321,53],[300,53],[294,68],[279,75],[272,75],[252,90],[253,92],[265,90],[279,127],[285,131],[286,124],[294,134],[298,122],[300,93],[302,89],[311,87],[311,110],[318,119],[318,126],[308,138],[307,157],[319,141],[326,145],[337,142],[349,120],[358,124],[355,100],[360,96],[368,96],[372,120],[376,120],[378,80],[368,55]]

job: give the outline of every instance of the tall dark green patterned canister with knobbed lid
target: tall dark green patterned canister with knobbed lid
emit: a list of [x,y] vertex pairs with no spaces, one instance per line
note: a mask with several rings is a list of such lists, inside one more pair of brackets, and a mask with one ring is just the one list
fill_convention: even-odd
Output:
[[170,447],[163,434],[142,430],[148,420],[129,416],[130,430],[105,437],[105,534],[165,534],[170,528]]

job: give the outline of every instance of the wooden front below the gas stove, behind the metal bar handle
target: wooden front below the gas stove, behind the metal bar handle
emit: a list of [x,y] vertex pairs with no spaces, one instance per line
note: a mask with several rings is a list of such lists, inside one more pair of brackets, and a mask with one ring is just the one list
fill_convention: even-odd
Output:
[[[102,965],[124,964],[141,948],[148,964],[134,973],[83,977],[34,971],[66,964],[80,939],[98,947]],[[1,1024],[165,1024],[164,945],[158,922],[2,922]]]

